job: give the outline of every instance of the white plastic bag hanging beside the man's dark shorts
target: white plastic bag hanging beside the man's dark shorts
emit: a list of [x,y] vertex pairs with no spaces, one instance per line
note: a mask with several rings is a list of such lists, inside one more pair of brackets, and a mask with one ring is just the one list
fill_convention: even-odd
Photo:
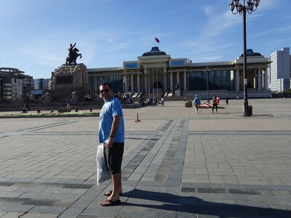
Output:
[[107,170],[105,165],[103,144],[98,145],[96,161],[97,161],[97,185],[99,185],[100,183],[112,178],[109,170]]

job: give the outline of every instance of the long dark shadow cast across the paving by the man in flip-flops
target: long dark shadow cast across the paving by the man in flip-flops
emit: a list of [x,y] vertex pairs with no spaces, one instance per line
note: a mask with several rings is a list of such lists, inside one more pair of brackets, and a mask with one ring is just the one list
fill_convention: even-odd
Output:
[[[161,202],[157,204],[128,203],[124,206],[139,206],[160,210],[159,216],[169,216],[169,212],[203,214],[219,217],[291,217],[291,210],[281,210],[273,208],[263,208],[256,206],[244,206],[238,204],[215,203],[201,200],[197,197],[183,197],[170,193],[153,192],[135,189],[131,192],[123,193],[122,197],[146,199],[149,201]],[[270,205],[271,206],[271,205]],[[163,213],[164,212],[164,213]],[[162,215],[163,214],[163,215]],[[172,213],[171,213],[172,214]],[[172,214],[174,215],[174,214]],[[172,216],[171,215],[171,216]],[[196,217],[196,216],[195,216]]]

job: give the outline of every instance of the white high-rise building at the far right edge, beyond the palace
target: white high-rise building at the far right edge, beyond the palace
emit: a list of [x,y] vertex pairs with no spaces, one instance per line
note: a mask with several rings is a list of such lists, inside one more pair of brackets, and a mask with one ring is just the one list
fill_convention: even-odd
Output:
[[[290,84],[283,81],[290,81],[290,48],[282,48],[280,51],[275,51],[271,54],[270,61],[270,78],[272,91],[287,91],[290,89]],[[282,80],[284,79],[284,80]],[[279,81],[278,81],[279,80]],[[285,87],[284,87],[285,84]]]

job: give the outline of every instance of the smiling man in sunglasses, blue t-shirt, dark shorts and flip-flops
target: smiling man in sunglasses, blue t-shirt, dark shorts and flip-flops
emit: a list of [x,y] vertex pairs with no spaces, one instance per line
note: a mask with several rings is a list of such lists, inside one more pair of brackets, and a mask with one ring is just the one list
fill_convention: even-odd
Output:
[[106,167],[112,177],[113,189],[104,193],[109,198],[101,206],[112,206],[120,203],[121,162],[124,150],[124,121],[120,101],[113,97],[112,87],[109,83],[102,83],[99,87],[104,105],[100,112],[99,142],[103,143]]

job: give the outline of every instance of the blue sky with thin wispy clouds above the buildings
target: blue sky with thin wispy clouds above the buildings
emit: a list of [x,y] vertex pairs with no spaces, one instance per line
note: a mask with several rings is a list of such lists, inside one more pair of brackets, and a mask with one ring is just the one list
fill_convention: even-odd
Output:
[[[240,0],[243,3],[243,0]],[[172,58],[233,61],[243,53],[243,18],[231,0],[0,0],[0,67],[50,78],[70,43],[87,68],[122,67],[156,43]],[[289,0],[261,0],[246,15],[247,48],[269,57],[291,47]]]

